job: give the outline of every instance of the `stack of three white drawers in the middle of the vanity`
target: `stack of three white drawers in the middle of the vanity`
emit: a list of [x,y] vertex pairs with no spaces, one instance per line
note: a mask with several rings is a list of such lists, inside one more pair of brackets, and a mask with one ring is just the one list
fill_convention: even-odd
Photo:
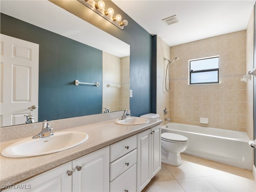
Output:
[[136,191],[137,135],[110,145],[110,192]]

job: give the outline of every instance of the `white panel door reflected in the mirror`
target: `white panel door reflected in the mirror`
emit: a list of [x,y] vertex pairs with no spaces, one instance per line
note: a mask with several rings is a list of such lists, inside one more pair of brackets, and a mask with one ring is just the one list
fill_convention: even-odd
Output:
[[0,126],[18,125],[24,115],[38,121],[39,45],[1,34]]

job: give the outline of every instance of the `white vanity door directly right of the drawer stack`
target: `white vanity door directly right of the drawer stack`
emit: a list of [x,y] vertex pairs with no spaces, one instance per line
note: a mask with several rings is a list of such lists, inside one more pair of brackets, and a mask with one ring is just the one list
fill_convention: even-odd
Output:
[[151,129],[137,135],[137,191],[140,192],[151,179]]

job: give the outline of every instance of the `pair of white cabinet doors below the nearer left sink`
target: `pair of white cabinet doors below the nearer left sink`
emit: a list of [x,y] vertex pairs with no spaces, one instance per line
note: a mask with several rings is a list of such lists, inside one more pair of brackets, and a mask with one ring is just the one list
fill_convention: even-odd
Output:
[[[22,186],[24,189],[20,189]],[[4,191],[108,192],[109,146],[34,176]]]

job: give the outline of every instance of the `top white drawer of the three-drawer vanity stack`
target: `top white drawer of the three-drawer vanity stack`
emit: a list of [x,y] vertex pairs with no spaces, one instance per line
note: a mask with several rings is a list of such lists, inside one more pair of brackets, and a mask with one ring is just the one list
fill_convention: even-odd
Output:
[[115,161],[119,157],[122,157],[126,153],[136,149],[137,147],[137,136],[133,135],[122,141],[110,145],[110,162]]

